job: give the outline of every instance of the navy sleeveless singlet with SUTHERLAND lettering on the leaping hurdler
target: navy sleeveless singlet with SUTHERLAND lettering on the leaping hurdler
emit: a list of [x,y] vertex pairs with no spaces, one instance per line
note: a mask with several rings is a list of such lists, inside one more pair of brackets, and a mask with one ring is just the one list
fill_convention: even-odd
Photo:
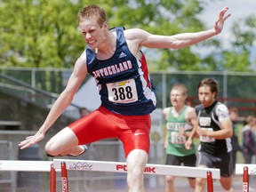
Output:
[[116,52],[108,60],[97,60],[92,49],[85,49],[88,73],[98,86],[101,105],[124,116],[141,116],[156,108],[156,91],[141,52],[137,60],[130,52],[124,28],[116,28]]

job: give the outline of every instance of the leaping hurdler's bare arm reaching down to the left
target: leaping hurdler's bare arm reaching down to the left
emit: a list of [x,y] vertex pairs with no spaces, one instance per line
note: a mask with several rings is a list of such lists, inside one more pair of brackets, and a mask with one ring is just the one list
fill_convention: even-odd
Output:
[[87,74],[86,60],[84,53],[76,60],[76,65],[73,73],[68,79],[67,87],[61,92],[60,97],[54,102],[48,116],[46,117],[44,124],[40,127],[35,135],[28,136],[26,140],[20,142],[21,149],[28,148],[31,145],[36,144],[40,140],[44,139],[44,134],[52,126],[52,124],[60,117],[64,110],[73,100],[73,97],[78,90],[80,84],[83,82],[84,77]]

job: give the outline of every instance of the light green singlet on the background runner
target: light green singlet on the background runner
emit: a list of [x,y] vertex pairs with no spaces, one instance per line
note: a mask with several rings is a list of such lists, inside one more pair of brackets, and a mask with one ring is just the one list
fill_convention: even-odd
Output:
[[166,128],[168,132],[168,146],[166,153],[173,156],[189,156],[196,153],[196,147],[194,143],[191,145],[191,149],[185,148],[185,142],[187,138],[179,134],[180,129],[184,128],[186,132],[191,132],[193,126],[186,121],[185,113],[188,106],[186,106],[180,116],[172,116],[172,108],[169,109],[167,116]]

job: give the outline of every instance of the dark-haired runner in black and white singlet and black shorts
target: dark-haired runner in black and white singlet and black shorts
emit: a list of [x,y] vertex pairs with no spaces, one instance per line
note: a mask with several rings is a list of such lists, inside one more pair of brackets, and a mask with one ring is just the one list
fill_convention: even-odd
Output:
[[[201,102],[196,106],[200,138],[197,166],[220,169],[220,184],[227,191],[232,188],[232,122],[228,108],[217,101],[219,87],[212,78],[203,79],[197,87]],[[206,179],[196,178],[196,192],[203,192]]]

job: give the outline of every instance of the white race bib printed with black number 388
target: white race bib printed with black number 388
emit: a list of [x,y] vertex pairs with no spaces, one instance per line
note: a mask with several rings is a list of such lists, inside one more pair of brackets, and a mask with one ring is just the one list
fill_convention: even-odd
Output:
[[129,103],[138,100],[134,79],[107,84],[108,100],[116,103]]

